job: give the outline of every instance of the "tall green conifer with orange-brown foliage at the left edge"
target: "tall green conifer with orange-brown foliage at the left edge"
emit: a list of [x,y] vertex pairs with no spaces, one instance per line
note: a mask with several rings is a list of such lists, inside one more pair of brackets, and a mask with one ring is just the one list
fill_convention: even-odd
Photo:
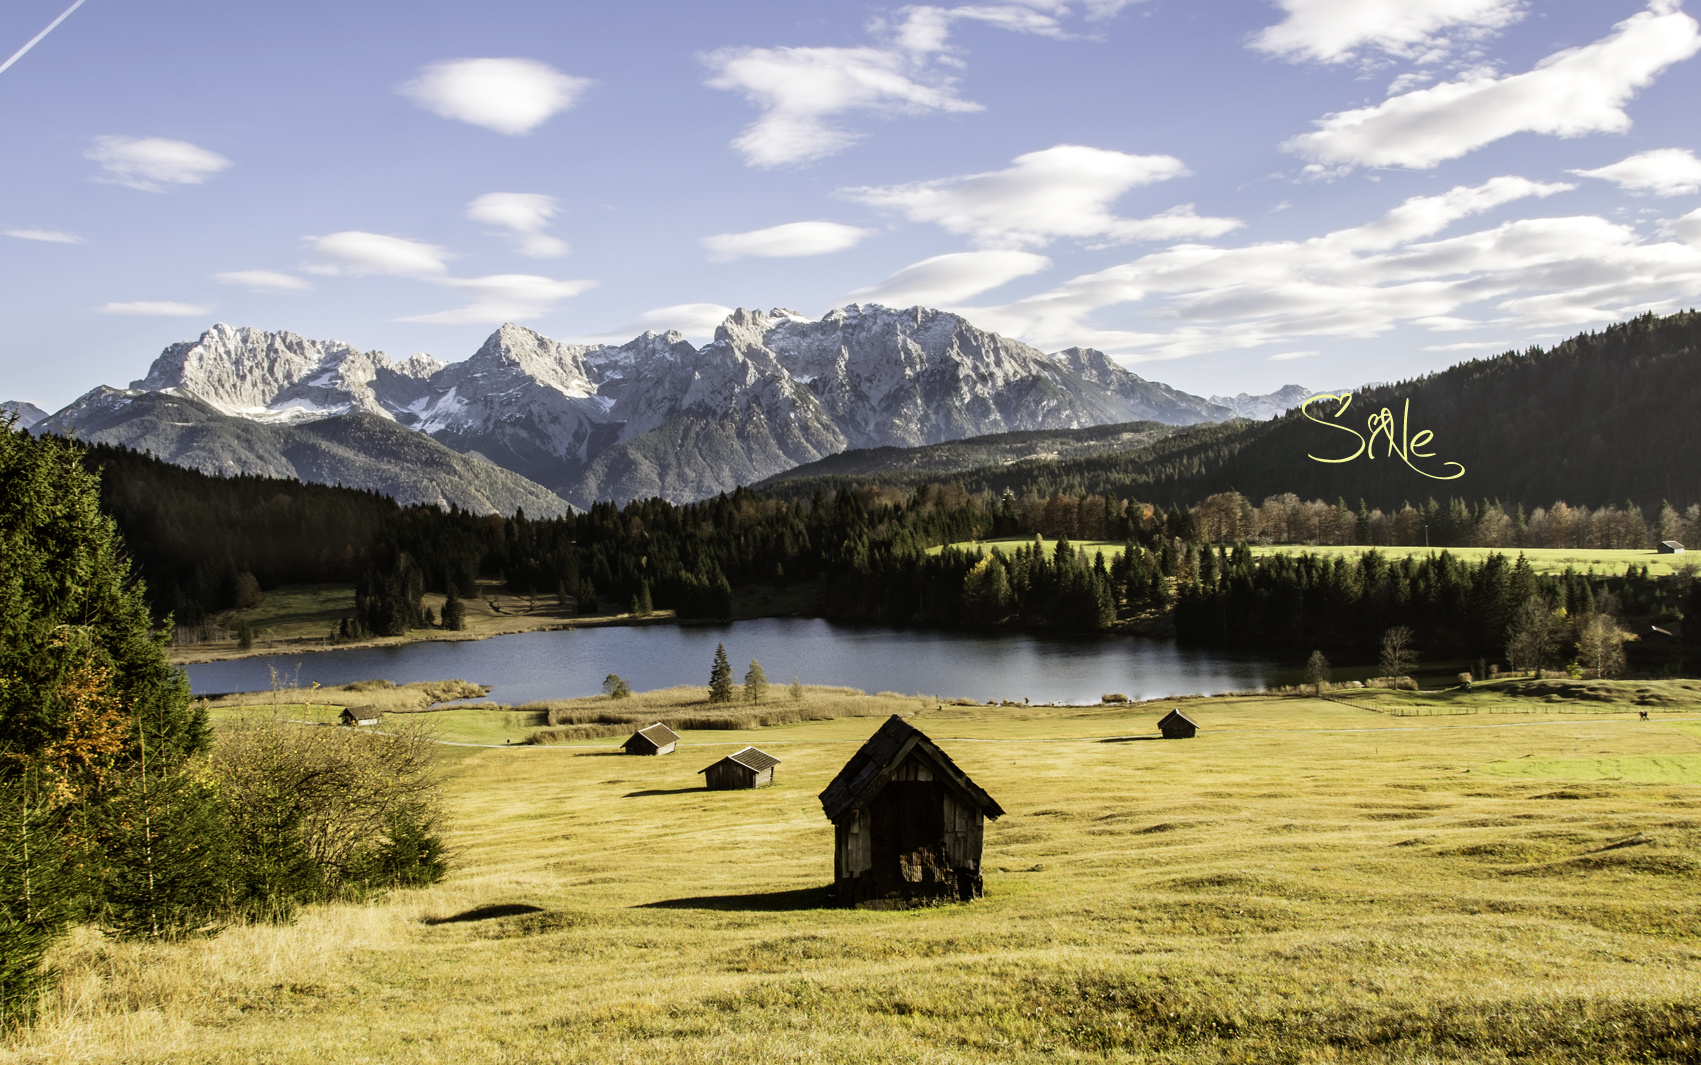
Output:
[[[77,444],[0,425],[0,1021],[26,1021],[66,900],[99,897],[107,800],[206,750]],[[63,857],[63,861],[61,861]],[[73,878],[80,876],[80,881]]]

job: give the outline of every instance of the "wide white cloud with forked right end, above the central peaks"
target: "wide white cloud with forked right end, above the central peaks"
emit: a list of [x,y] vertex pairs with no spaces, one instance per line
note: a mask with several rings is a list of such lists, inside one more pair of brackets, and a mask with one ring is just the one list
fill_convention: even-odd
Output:
[[1187,174],[1170,155],[1128,155],[1058,145],[1029,151],[1005,170],[908,185],[842,189],[840,196],[934,223],[981,247],[1039,247],[1058,236],[1119,243],[1221,236],[1242,223],[1201,218],[1192,206],[1153,218],[1111,213],[1129,189]]

